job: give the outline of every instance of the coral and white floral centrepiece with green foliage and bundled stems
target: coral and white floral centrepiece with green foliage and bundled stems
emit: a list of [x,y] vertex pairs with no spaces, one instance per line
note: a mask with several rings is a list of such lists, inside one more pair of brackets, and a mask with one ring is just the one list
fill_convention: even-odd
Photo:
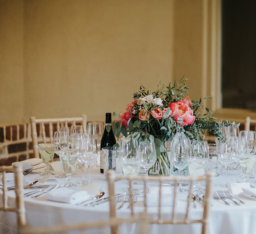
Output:
[[159,166],[161,174],[170,174],[170,161],[164,152],[166,142],[171,141],[176,133],[178,117],[183,117],[185,134],[190,140],[202,140],[203,134],[210,133],[221,137],[219,123],[211,116],[213,112],[205,108],[206,113],[200,115],[199,109],[204,109],[202,99],[185,97],[188,91],[185,81],[181,79],[166,87],[160,83],[152,94],[140,86],[140,90],[133,95],[133,101],[127,104],[126,112],[121,113],[112,124],[118,138],[124,135],[139,142],[155,142],[157,162],[153,170]]

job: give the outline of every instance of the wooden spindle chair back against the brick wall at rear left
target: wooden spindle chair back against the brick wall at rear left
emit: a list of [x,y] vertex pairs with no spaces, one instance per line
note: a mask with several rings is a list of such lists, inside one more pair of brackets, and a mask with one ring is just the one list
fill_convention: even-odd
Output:
[[[68,127],[68,123],[71,125],[76,125],[77,122],[82,123],[84,131],[87,129],[87,115],[82,115],[82,117],[74,118],[55,118],[55,119],[36,119],[34,116],[30,117],[31,129],[32,129],[32,140],[33,140],[33,150],[34,157],[39,158],[38,141],[46,143],[53,142],[53,124],[57,124],[57,131],[61,127]],[[39,134],[37,132],[37,123],[40,123]],[[49,124],[50,138],[46,137],[45,124]]]

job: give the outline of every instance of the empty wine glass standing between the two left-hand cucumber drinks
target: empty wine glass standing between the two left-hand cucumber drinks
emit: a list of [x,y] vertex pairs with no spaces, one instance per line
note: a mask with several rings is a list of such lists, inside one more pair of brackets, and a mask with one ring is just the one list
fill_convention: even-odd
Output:
[[[68,151],[69,148],[69,137],[67,132],[61,132],[57,131],[54,132],[53,135],[53,145],[54,145],[54,152],[59,156],[62,154],[65,154]],[[62,163],[60,163],[61,167],[61,172],[59,175],[55,176],[56,178],[66,178],[66,174],[63,171]]]

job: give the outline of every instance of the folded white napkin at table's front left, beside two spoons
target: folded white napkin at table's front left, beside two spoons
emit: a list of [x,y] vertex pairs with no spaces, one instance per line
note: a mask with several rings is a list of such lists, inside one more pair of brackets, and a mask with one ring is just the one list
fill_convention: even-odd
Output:
[[45,195],[45,198],[50,201],[58,201],[76,204],[90,199],[90,195],[86,191],[78,191],[70,188],[58,188]]

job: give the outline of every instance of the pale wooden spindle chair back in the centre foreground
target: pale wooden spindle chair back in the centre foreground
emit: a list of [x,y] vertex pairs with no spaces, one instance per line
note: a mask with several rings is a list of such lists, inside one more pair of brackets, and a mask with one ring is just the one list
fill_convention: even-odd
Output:
[[[111,219],[117,219],[116,215],[116,196],[115,196],[115,189],[114,189],[114,182],[116,180],[127,180],[129,182],[129,192],[130,192],[130,209],[131,209],[131,216],[130,218],[123,219],[123,222],[138,222],[138,217],[134,216],[134,207],[132,202],[132,181],[143,181],[144,182],[144,216],[143,216],[143,222],[153,224],[192,224],[192,223],[202,223],[202,234],[208,233],[208,219],[209,219],[209,212],[210,212],[210,196],[211,196],[211,184],[212,184],[212,174],[207,173],[206,177],[165,177],[165,176],[152,176],[146,179],[145,176],[122,176],[122,175],[116,175],[114,171],[109,170],[107,172],[107,181],[109,186],[109,201],[110,201],[110,218]],[[147,181],[155,181],[159,182],[159,201],[158,201],[158,219],[151,219],[148,218],[147,213],[147,192],[145,192],[146,189],[146,182]],[[206,182],[206,189],[205,189],[205,198],[204,198],[204,212],[203,212],[203,218],[192,220],[189,219],[189,209],[190,209],[190,199],[188,198],[187,206],[186,206],[186,214],[184,219],[176,219],[175,218],[175,209],[176,209],[176,198],[177,198],[177,192],[176,189],[174,189],[174,192],[172,194],[173,198],[173,206],[172,206],[172,214],[171,219],[162,219],[161,217],[161,197],[162,197],[162,183],[163,182],[170,182],[175,183],[177,186],[179,181],[187,181],[190,184],[189,187],[189,193],[191,194],[192,190],[192,183],[193,181],[205,181]],[[114,227],[113,227],[114,228]],[[113,229],[112,233],[117,233],[117,229]]]

